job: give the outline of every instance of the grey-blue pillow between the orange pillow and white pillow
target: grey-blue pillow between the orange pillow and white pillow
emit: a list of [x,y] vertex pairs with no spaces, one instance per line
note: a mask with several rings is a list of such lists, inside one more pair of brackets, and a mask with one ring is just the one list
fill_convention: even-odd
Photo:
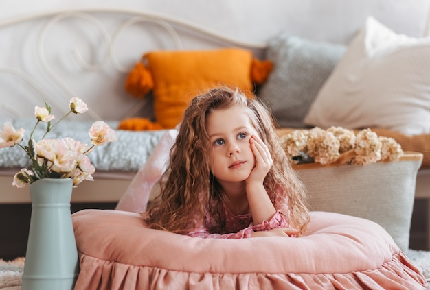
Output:
[[258,93],[280,127],[304,128],[303,119],[346,47],[280,33],[269,40],[273,71]]

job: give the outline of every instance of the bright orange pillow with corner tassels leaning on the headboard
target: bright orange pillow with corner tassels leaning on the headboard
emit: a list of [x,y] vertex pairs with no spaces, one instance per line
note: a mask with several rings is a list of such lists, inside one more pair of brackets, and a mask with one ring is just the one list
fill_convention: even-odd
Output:
[[214,86],[234,86],[251,95],[253,82],[264,82],[271,70],[271,63],[260,62],[253,59],[251,51],[236,48],[152,51],[142,62],[148,71],[139,62],[135,73],[128,76],[126,90],[144,97],[152,88],[156,121],[166,129],[181,122],[192,97]]

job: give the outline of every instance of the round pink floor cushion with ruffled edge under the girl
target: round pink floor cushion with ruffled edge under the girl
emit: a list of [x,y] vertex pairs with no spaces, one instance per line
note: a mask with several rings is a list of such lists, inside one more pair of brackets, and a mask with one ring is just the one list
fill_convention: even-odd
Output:
[[192,238],[148,229],[138,214],[120,210],[81,210],[73,214],[73,225],[80,253],[77,289],[426,285],[381,226],[337,213],[312,212],[299,238]]

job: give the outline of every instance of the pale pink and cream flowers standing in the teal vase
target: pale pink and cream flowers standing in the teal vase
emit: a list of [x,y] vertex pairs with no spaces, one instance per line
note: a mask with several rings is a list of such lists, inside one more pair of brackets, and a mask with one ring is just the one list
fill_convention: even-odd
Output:
[[[95,172],[95,167],[87,154],[97,145],[117,141],[117,134],[104,121],[97,121],[89,129],[91,146],[68,137],[45,139],[45,136],[69,114],[82,114],[88,110],[87,104],[78,97],[71,98],[69,108],[69,112],[53,124],[52,120],[55,117],[51,114],[51,106],[46,101],[45,107],[36,106],[34,108],[36,124],[27,145],[20,144],[25,133],[23,128],[15,130],[10,123],[3,125],[0,131],[0,148],[17,145],[30,158],[30,168],[23,168],[15,174],[12,182],[14,186],[23,187],[43,178],[71,178],[74,187],[83,180],[93,180],[91,174]],[[35,141],[34,132],[40,123],[46,124],[45,134],[40,141]]]

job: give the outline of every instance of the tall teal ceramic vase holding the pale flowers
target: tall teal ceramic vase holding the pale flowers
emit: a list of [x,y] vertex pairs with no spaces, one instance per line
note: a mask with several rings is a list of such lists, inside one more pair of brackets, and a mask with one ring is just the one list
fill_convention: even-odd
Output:
[[79,266],[72,189],[70,178],[45,178],[30,185],[32,215],[21,290],[73,289]]

